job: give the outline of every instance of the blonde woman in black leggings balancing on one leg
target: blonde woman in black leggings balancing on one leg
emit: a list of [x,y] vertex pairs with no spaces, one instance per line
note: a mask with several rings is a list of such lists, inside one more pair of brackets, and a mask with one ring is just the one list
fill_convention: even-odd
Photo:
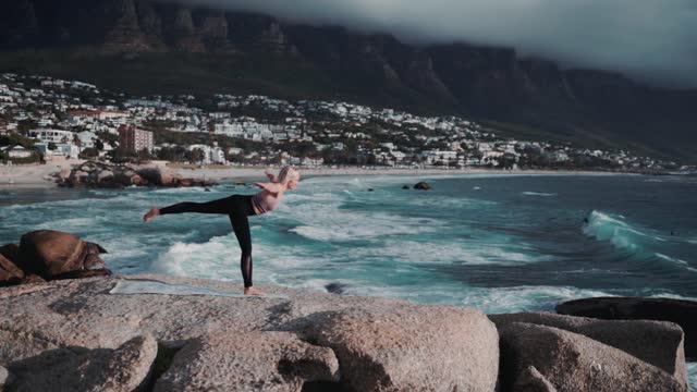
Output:
[[249,233],[249,222],[247,217],[266,213],[277,208],[283,193],[288,189],[295,189],[301,174],[291,167],[281,169],[278,175],[269,171],[265,172],[270,182],[255,183],[261,188],[256,195],[232,195],[225,198],[207,203],[185,201],[164,208],[152,208],[144,217],[145,222],[159,216],[168,213],[224,213],[230,217],[232,229],[237,236],[237,242],[242,248],[242,259],[240,268],[244,280],[245,295],[264,295],[252,285],[252,234]]

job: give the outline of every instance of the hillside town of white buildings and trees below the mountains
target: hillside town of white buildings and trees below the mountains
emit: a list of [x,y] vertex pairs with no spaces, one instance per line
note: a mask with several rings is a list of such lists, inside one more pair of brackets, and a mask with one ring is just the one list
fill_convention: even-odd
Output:
[[266,96],[131,97],[0,75],[0,162],[159,159],[197,166],[693,170],[623,149],[498,136],[458,117]]

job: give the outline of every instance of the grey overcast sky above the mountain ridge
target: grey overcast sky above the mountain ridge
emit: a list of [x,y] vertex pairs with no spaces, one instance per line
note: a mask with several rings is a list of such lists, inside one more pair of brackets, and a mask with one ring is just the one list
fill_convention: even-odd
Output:
[[[174,0],[172,0],[174,1]],[[180,0],[405,42],[513,47],[571,66],[697,87],[697,0]]]

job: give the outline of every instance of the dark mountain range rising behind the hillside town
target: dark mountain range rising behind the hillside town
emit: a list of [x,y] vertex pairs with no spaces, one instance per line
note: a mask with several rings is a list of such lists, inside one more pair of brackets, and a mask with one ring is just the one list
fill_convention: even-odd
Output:
[[697,90],[561,68],[510,48],[415,46],[389,34],[152,0],[1,8],[0,71],[132,94],[342,99],[465,115],[516,137],[697,160]]

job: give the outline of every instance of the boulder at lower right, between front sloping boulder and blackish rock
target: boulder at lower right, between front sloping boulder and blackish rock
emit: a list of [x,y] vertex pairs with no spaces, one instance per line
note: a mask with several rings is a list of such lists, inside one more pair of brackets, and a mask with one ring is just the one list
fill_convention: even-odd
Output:
[[675,323],[651,320],[598,320],[551,313],[519,313],[488,317],[499,329],[513,322],[525,322],[585,335],[649,363],[687,385],[684,333]]

